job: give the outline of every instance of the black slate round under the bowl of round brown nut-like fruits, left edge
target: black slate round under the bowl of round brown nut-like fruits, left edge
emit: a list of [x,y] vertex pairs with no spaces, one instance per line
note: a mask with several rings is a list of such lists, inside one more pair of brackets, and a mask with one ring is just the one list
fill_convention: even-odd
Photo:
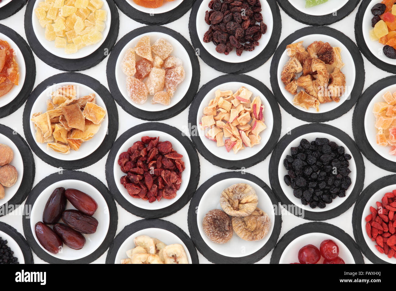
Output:
[[[26,141],[15,130],[0,124],[0,134],[8,137],[14,145],[19,149],[23,160],[23,176],[21,185],[14,196],[5,204],[0,205],[0,217],[14,211],[28,196],[33,186],[34,174],[36,167],[34,166],[34,158],[32,151]],[[1,141],[0,141],[1,143]],[[12,164],[12,162],[11,162]],[[18,173],[20,175],[20,173]],[[4,189],[7,196],[7,188]],[[0,200],[1,201],[1,200]]]

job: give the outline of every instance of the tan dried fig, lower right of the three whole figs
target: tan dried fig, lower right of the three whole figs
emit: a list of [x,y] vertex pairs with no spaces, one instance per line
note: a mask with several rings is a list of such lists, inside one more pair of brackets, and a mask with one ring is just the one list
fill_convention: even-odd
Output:
[[270,230],[270,218],[259,207],[245,217],[232,217],[232,228],[236,234],[247,241],[262,240]]

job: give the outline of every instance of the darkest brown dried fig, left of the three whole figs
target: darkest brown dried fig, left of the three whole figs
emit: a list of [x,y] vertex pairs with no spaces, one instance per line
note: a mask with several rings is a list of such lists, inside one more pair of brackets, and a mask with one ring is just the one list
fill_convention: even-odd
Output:
[[231,219],[220,209],[212,209],[206,213],[202,228],[212,242],[226,243],[232,238]]

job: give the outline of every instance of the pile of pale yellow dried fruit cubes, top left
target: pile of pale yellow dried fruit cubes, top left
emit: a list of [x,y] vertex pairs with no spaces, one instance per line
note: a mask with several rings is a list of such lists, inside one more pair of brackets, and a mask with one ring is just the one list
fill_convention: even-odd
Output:
[[100,42],[107,10],[102,0],[45,0],[34,10],[45,38],[66,54]]

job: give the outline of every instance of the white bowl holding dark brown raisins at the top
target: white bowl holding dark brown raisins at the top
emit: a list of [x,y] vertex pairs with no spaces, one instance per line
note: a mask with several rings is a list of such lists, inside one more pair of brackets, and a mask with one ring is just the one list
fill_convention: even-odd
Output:
[[261,1],[261,14],[263,15],[263,22],[267,25],[267,32],[265,32],[265,34],[263,34],[259,39],[259,46],[256,46],[253,51],[243,51],[242,55],[240,56],[236,55],[235,49],[231,51],[229,55],[218,53],[216,51],[216,46],[212,42],[204,42],[204,34],[209,29],[209,25],[205,22],[205,12],[206,10],[210,11],[208,4],[209,0],[202,1],[200,7],[198,8],[196,18],[198,38],[208,53],[210,53],[213,57],[227,63],[242,63],[257,57],[257,55],[259,55],[259,53],[264,50],[271,38],[272,30],[274,29],[274,20],[272,18],[271,8],[266,0]]

